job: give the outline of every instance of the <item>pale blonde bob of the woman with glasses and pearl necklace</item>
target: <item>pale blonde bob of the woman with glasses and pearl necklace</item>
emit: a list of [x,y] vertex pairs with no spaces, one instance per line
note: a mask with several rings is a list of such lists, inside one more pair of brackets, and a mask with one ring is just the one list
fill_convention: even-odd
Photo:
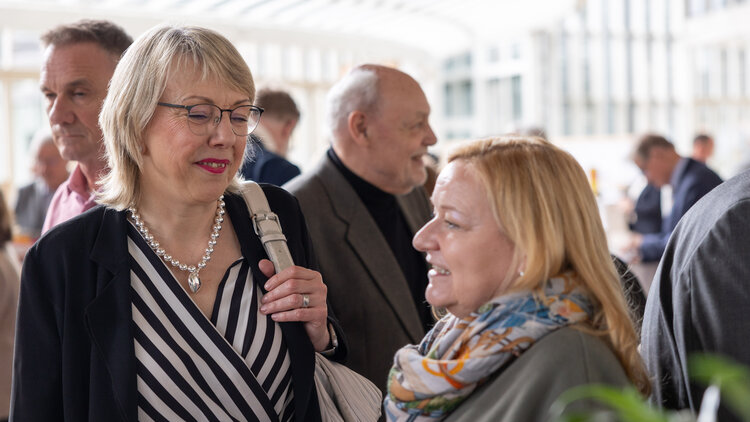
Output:
[[[101,182],[99,203],[122,210],[139,202],[143,132],[170,77],[190,71],[245,93],[250,101],[255,98],[250,68],[217,32],[159,26],[141,35],[117,65],[99,115],[110,169]],[[239,180],[235,176],[228,190],[237,191]]]

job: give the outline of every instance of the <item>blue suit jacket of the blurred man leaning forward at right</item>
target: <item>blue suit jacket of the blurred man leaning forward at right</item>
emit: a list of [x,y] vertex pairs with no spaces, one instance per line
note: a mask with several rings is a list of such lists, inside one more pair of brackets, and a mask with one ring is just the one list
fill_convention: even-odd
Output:
[[661,258],[664,248],[672,231],[683,215],[703,195],[720,185],[722,180],[705,164],[686,158],[687,165],[682,174],[677,176],[677,182],[672,186],[672,212],[662,221],[660,233],[646,234],[641,244],[641,257],[644,262],[654,262]]

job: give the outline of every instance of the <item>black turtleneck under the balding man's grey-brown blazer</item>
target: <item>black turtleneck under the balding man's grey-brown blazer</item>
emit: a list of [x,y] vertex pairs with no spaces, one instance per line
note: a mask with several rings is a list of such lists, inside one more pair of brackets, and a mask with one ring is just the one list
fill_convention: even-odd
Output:
[[430,306],[424,298],[424,291],[427,288],[427,263],[422,253],[414,249],[411,244],[412,233],[396,201],[396,196],[383,192],[354,174],[341,162],[333,149],[328,149],[328,158],[333,161],[336,168],[357,192],[359,199],[362,200],[380,232],[383,233],[393,256],[401,267],[401,272],[409,283],[409,290],[422,326],[425,331],[428,331],[434,319]]

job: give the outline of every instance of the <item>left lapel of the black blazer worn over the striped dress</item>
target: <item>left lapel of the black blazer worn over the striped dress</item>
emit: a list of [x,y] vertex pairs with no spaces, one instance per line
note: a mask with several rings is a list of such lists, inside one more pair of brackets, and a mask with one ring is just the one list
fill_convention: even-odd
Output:
[[96,294],[84,318],[104,362],[123,420],[137,419],[135,351],[131,333],[130,268],[125,212],[105,209],[90,259],[97,268]]

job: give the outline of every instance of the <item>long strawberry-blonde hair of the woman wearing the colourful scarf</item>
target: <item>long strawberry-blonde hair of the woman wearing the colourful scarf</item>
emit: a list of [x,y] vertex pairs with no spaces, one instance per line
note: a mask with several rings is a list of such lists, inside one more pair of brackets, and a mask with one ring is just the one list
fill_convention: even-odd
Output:
[[508,291],[533,290],[575,271],[596,309],[590,327],[577,328],[603,336],[633,384],[648,395],[638,336],[581,166],[549,142],[523,136],[470,142],[448,158],[457,160],[476,171],[497,223],[514,243],[511,268],[523,263],[523,275]]

